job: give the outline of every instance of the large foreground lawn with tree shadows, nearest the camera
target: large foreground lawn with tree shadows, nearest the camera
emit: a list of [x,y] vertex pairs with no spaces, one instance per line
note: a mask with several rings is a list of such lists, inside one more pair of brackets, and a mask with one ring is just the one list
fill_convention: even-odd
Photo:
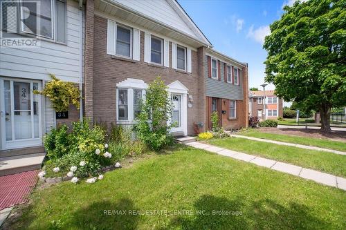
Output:
[[[62,182],[36,190],[12,228],[346,228],[345,191],[230,157],[180,148],[106,173],[95,184]],[[104,215],[104,210],[126,214]],[[129,210],[170,214],[129,215]],[[242,215],[212,215],[213,210]]]

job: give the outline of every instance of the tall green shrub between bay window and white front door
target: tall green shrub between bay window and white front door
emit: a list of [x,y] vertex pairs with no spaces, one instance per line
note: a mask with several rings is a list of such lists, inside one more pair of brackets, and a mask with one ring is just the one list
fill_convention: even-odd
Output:
[[167,120],[172,117],[172,102],[168,97],[167,86],[158,77],[150,83],[145,101],[140,102],[140,113],[137,117],[136,131],[138,138],[149,148],[159,151],[170,144],[170,128]]

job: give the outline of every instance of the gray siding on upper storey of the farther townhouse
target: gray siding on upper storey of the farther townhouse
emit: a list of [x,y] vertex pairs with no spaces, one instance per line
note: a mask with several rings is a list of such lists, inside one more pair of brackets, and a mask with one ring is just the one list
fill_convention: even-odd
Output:
[[218,79],[212,79],[208,77],[208,56],[204,58],[204,77],[206,78],[206,96],[208,97],[219,97],[225,99],[243,100],[243,77],[239,76],[239,86],[226,83],[224,80],[224,65],[221,61],[221,81]]

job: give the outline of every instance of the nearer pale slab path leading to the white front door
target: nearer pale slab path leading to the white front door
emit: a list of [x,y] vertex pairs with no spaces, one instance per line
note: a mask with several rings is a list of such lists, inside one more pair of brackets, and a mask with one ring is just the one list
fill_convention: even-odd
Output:
[[289,173],[291,175],[299,176],[300,178],[314,180],[320,184],[325,184],[328,186],[334,186],[339,189],[343,189],[346,191],[346,179],[336,177],[335,175],[331,175],[328,173],[321,173],[319,171],[305,169],[300,166],[296,166],[293,164],[286,164],[284,162],[278,162],[276,160],[269,160],[263,157],[257,157],[255,155],[249,155],[246,153],[240,153],[237,151],[232,151],[226,148],[220,148],[217,146],[212,146],[210,144],[203,144],[201,142],[190,142],[186,144],[188,146],[192,146],[194,148],[201,148],[206,151],[210,151],[212,153],[217,153],[219,155],[225,155],[228,157],[235,158],[237,160],[242,160],[244,162],[250,162],[253,164],[257,164],[259,166],[264,166],[268,169],[273,169],[276,171],[280,171],[283,173]]

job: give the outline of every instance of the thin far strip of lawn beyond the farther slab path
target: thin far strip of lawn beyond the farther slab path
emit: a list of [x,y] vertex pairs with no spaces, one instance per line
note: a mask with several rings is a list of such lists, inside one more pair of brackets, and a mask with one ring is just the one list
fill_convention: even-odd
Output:
[[241,135],[246,135],[249,137],[257,137],[268,140],[276,140],[280,142],[289,142],[294,144],[304,144],[309,146],[317,146],[321,148],[330,148],[338,151],[346,152],[346,143],[345,142],[337,142],[320,138],[313,137],[299,137],[299,136],[291,136],[291,135],[281,135],[275,133],[263,133],[258,131],[255,128],[248,129],[242,133]]

